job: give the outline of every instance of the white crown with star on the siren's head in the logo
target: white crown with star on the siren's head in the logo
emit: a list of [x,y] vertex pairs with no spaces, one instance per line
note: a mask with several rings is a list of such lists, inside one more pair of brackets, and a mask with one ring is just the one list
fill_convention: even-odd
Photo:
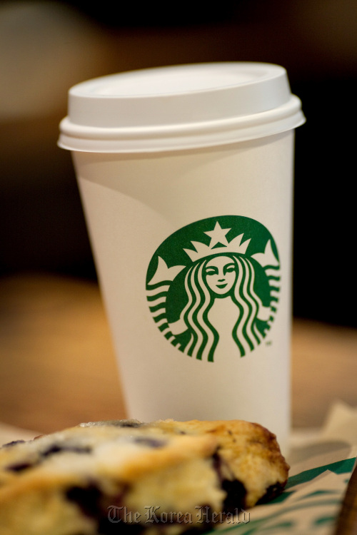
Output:
[[[241,243],[243,234],[236,236],[230,242],[228,242],[226,235],[230,231],[230,228],[221,228],[221,225],[216,222],[216,225],[213,230],[208,230],[205,232],[208,236],[211,237],[211,242],[209,245],[201,242],[191,241],[193,247],[196,250],[183,249],[185,253],[191,258],[194,262],[195,260],[200,260],[206,256],[218,255],[220,253],[241,253],[245,254],[246,249],[251,241],[251,238]],[[220,245],[219,245],[220,244]],[[217,247],[218,245],[218,247]]]

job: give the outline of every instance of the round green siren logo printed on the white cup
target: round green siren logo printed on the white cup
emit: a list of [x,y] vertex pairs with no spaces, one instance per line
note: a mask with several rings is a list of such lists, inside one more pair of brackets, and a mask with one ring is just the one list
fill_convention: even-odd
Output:
[[221,215],[191,223],[151,258],[146,291],[154,322],[178,350],[213,362],[225,336],[253,351],[276,315],[280,262],[258,221]]

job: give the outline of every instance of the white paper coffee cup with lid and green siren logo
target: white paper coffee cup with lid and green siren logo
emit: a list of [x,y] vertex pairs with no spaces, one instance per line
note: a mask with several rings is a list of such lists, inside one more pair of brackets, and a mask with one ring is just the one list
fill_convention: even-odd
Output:
[[202,63],[69,91],[72,151],[130,417],[290,427],[286,71]]

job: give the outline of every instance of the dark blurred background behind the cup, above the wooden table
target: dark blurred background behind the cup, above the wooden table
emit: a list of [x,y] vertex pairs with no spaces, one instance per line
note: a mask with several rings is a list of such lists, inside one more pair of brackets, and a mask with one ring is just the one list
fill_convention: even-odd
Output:
[[0,277],[96,278],[71,156],[56,146],[68,89],[199,61],[287,69],[307,118],[296,131],[293,312],[357,327],[356,0],[0,1]]

